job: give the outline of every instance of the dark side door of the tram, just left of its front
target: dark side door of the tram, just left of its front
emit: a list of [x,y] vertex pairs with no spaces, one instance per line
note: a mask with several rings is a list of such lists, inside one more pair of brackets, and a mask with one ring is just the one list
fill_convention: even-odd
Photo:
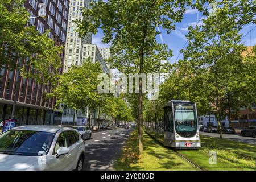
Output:
[[172,107],[164,107],[164,144],[171,146],[174,135],[174,117]]

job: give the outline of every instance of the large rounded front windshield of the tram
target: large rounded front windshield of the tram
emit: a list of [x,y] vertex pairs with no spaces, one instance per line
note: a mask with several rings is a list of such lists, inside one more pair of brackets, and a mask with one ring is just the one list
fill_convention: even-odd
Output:
[[197,131],[195,105],[174,104],[175,130],[181,137],[192,137]]

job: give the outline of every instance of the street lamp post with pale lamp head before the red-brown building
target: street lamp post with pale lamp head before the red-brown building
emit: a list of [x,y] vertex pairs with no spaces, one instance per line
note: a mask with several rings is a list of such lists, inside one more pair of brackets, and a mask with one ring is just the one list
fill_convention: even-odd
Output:
[[[29,17],[28,18],[28,21],[30,19],[34,19],[34,18],[46,18],[46,4],[44,3],[39,3],[38,5],[39,7],[39,10],[38,10],[38,16],[35,16],[35,17]],[[27,23],[27,26],[28,27],[28,23]],[[18,71],[16,71],[16,73],[18,74]],[[20,82],[21,82],[22,79],[19,79],[18,77],[18,80],[16,82],[16,88],[15,88],[15,96],[14,96],[14,101],[13,101],[13,109],[11,110],[11,119],[14,118],[14,114],[15,114],[15,109],[16,109],[16,102],[18,100],[18,92],[19,92],[19,87],[18,85],[20,85]],[[14,80],[15,81],[15,80]]]

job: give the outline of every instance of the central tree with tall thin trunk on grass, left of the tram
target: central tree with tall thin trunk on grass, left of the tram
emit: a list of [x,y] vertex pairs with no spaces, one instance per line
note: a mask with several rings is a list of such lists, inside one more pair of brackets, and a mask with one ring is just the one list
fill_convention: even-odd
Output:
[[[77,20],[80,35],[95,34],[97,28],[104,32],[104,43],[110,43],[113,65],[119,71],[147,73],[154,70],[160,60],[167,60],[171,51],[165,44],[156,42],[156,27],[170,33],[175,22],[183,18],[191,1],[117,1],[94,2],[92,9],[84,9],[82,20]],[[199,2],[195,4],[199,6]],[[155,72],[158,72],[157,68]],[[142,79],[138,94],[139,153],[143,152]]]

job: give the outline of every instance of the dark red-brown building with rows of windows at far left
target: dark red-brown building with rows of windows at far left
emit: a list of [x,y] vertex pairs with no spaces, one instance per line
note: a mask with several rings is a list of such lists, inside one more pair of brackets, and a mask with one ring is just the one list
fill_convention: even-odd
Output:
[[[35,26],[40,34],[47,29],[50,30],[49,37],[55,44],[65,47],[69,0],[27,0],[24,2],[24,7],[28,9],[31,16],[36,17],[38,15],[39,3],[45,3],[46,5],[46,18],[30,19],[28,26]],[[62,61],[63,58],[64,56],[61,54]],[[26,60],[23,61],[23,64],[26,64]],[[32,68],[28,66],[28,69]],[[62,69],[60,72],[62,72]],[[15,93],[17,86],[19,92]],[[49,88],[49,85],[46,86]],[[1,120],[11,117],[15,94],[18,94],[14,113],[14,119],[18,119],[18,126],[52,125],[54,118],[53,107],[56,100],[52,98],[43,102],[42,90],[44,88],[45,86],[38,84],[34,79],[20,77],[18,71],[2,69],[0,71]]]

